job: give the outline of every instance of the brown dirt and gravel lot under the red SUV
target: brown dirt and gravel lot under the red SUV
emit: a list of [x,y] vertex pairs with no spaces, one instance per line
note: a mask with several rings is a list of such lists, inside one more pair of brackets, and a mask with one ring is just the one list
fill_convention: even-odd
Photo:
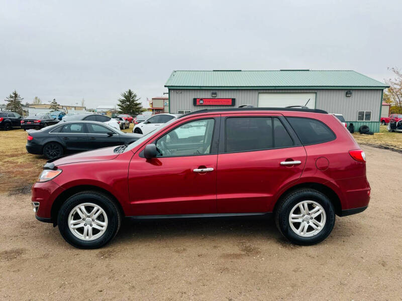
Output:
[[30,195],[1,194],[0,299],[402,300],[402,155],[363,148],[369,208],[310,247],[243,218],[128,220],[108,246],[79,250],[36,221]]

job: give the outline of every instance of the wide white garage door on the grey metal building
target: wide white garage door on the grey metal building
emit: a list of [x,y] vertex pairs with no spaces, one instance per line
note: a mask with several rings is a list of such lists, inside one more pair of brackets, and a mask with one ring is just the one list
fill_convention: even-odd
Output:
[[[310,101],[309,101],[310,99]],[[307,103],[307,101],[309,101]],[[306,105],[307,103],[307,105]],[[258,106],[266,108],[283,108],[290,105],[316,107],[316,93],[259,93]]]

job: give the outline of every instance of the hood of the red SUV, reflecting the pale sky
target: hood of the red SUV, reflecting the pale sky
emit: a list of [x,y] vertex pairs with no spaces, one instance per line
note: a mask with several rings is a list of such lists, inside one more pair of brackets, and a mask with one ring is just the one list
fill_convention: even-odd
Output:
[[106,161],[113,160],[119,154],[115,154],[113,150],[118,146],[111,146],[105,148],[99,148],[95,150],[89,150],[88,152],[78,153],[70,156],[63,156],[49,160],[48,163],[53,163],[55,166],[60,166],[64,164],[79,163],[79,162],[89,162],[89,161]]

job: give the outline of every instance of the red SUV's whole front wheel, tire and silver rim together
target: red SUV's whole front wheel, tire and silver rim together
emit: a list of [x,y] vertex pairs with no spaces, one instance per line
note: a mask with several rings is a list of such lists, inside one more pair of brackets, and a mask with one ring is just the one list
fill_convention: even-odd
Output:
[[63,238],[82,249],[99,248],[119,231],[121,213],[107,195],[94,191],[77,193],[61,206],[57,224]]

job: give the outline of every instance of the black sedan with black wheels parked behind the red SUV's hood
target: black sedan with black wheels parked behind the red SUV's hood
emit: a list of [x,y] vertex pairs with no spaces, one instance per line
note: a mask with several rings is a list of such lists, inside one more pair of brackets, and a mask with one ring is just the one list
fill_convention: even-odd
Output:
[[125,133],[103,122],[68,121],[28,131],[27,151],[52,159],[100,147],[130,144],[142,135]]

